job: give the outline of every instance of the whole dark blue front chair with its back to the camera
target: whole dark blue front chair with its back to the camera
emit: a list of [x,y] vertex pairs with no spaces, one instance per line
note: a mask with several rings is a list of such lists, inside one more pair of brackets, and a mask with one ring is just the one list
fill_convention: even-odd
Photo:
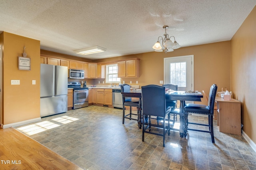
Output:
[[[163,136],[163,147],[165,145],[165,135],[170,135],[170,111],[171,107],[166,107],[165,87],[158,85],[142,86],[142,141],[144,141],[144,133]],[[165,120],[168,115],[168,125]],[[156,117],[161,117],[162,120]],[[154,123],[152,122],[154,120]],[[146,126],[145,126],[146,125]],[[155,131],[151,131],[151,127],[156,127]],[[162,133],[159,133],[162,128]],[[158,133],[157,133],[158,132]]]

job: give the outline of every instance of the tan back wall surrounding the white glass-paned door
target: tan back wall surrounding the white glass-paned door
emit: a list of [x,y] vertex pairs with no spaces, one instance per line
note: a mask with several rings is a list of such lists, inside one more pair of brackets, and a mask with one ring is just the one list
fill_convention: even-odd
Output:
[[[153,50],[153,49],[152,49]],[[230,90],[230,41],[183,47],[173,52],[150,52],[136,55],[101,59],[96,62],[115,61],[129,58],[140,59],[140,77],[122,78],[126,83],[140,86],[160,84],[164,80],[164,58],[194,55],[194,90],[204,90],[209,94],[210,86],[217,84],[218,90],[226,87]],[[205,100],[202,100],[206,104]]]

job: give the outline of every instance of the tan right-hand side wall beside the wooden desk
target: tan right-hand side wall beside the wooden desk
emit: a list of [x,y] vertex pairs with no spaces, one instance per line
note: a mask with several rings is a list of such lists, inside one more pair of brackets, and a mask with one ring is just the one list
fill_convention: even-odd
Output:
[[242,104],[243,131],[256,143],[256,7],[231,39],[231,90]]

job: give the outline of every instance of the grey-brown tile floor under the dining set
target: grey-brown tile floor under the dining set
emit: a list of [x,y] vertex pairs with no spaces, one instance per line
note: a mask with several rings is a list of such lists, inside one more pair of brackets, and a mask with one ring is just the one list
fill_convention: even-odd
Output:
[[[189,115],[190,121],[207,117]],[[209,133],[188,131],[162,137],[145,133],[122,110],[89,106],[44,117],[15,127],[54,152],[88,170],[256,170],[256,152],[239,135],[224,134],[214,126]]]

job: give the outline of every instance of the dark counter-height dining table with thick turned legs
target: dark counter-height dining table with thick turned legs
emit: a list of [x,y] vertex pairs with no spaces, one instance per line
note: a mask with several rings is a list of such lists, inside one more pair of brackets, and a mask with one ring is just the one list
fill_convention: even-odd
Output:
[[[138,114],[139,114],[139,119],[138,119],[138,127],[141,129],[142,127],[142,91],[141,90],[131,90],[129,92],[121,92],[121,94],[124,97],[132,97],[132,98],[139,98],[139,106],[137,107],[138,109]],[[152,96],[154,97],[154,96]],[[186,137],[186,133],[184,131],[184,125],[185,125],[185,116],[184,116],[184,106],[186,104],[186,101],[192,101],[192,102],[201,102],[201,98],[204,96],[202,95],[201,92],[197,93],[186,93],[186,91],[167,91],[165,93],[166,101],[170,100],[179,100],[180,101],[180,107],[179,109],[175,109],[175,111],[172,111],[172,113],[180,115],[180,128],[179,129],[173,129],[173,130],[178,130],[180,132],[180,137]]]

